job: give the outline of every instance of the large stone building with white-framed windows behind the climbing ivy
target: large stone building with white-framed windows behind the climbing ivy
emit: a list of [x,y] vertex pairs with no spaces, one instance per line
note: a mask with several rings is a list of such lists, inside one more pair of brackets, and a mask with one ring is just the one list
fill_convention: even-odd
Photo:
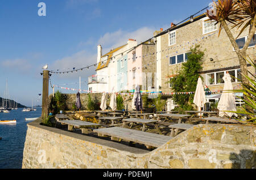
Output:
[[[229,72],[230,75],[241,79],[240,63],[234,48],[224,29],[218,37],[218,25],[216,22],[205,22],[208,17],[203,15],[188,20],[187,22],[172,27],[168,31],[156,35],[156,88],[162,92],[172,92],[168,83],[181,69],[181,64],[187,61],[190,48],[196,44],[204,51],[203,85],[207,85],[210,91],[221,91],[224,86],[222,77]],[[229,24],[231,27],[232,24]],[[232,29],[234,37],[239,31]],[[237,44],[241,48],[245,44],[248,35],[247,29],[237,38]],[[255,59],[255,41],[251,41],[247,49],[247,55]],[[251,72],[253,67],[248,65]],[[233,78],[233,87],[240,87],[236,78]]]

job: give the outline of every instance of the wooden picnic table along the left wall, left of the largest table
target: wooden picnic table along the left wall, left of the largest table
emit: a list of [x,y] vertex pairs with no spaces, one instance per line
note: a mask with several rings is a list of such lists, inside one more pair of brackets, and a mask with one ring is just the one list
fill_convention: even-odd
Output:
[[101,125],[91,122],[85,122],[80,120],[63,120],[61,121],[62,125],[68,125],[68,131],[73,131],[75,128],[80,128],[82,130],[82,134],[88,134],[89,128],[97,128]]

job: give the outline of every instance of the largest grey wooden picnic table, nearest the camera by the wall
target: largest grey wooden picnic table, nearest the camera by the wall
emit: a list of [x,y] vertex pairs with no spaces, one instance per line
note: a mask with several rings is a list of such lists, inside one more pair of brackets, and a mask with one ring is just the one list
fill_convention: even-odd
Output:
[[111,136],[112,140],[121,141],[123,139],[129,142],[144,144],[146,145],[147,148],[160,147],[161,145],[167,143],[169,140],[172,139],[172,137],[170,136],[131,130],[129,128],[122,128],[122,127],[100,128],[97,130],[93,130],[93,132]]

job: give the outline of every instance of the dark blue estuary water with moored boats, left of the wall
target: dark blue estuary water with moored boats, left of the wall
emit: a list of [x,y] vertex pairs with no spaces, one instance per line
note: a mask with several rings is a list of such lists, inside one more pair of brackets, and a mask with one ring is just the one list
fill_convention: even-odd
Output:
[[0,113],[0,120],[16,119],[16,124],[0,124],[0,169],[21,169],[23,148],[26,140],[27,123],[25,118],[40,117],[42,108],[33,112],[22,112],[23,108]]

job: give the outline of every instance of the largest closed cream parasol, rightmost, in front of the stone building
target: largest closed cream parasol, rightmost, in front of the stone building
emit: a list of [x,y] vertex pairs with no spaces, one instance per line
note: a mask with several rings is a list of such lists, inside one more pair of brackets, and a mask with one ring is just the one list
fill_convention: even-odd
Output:
[[[219,115],[220,117],[224,117],[225,115],[228,117],[232,117],[233,115],[237,117],[236,113],[236,100],[234,97],[234,93],[231,92],[233,90],[233,86],[231,83],[231,77],[229,73],[223,77],[224,79],[224,88],[221,94],[220,101],[218,101],[218,110],[220,110]],[[232,112],[224,112],[224,111],[232,111]]]

